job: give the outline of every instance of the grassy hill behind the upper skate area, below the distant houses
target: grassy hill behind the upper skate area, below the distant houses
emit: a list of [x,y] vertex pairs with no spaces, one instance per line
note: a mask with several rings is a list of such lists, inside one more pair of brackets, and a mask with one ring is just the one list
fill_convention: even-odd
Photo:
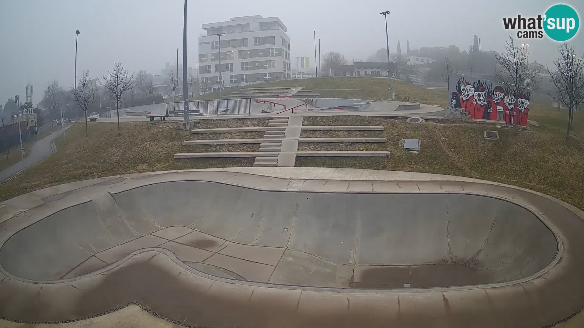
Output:
[[[320,93],[321,97],[355,98],[355,99],[378,99],[387,98],[387,79],[385,78],[314,78],[314,79],[293,79],[284,81],[274,81],[258,83],[252,86],[242,86],[225,90],[223,93],[238,91],[245,88],[269,88],[279,86],[305,86],[304,89],[314,90]],[[422,102],[426,104],[436,104],[443,106],[446,104],[446,97],[443,93],[420,88],[418,86],[401,81],[391,81],[394,93],[401,96],[409,96],[412,102]],[[344,90],[339,90],[344,89]],[[196,99],[217,99],[218,92],[207,93],[196,97]],[[194,99],[194,98],[193,98]]]

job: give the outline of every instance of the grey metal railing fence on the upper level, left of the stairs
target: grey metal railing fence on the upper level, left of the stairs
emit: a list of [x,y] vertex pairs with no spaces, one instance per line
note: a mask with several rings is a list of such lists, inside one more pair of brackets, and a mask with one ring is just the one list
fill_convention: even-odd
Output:
[[[252,113],[251,98],[214,100],[190,100],[189,114],[198,115],[246,115]],[[183,102],[166,103],[166,114],[183,114]]]

